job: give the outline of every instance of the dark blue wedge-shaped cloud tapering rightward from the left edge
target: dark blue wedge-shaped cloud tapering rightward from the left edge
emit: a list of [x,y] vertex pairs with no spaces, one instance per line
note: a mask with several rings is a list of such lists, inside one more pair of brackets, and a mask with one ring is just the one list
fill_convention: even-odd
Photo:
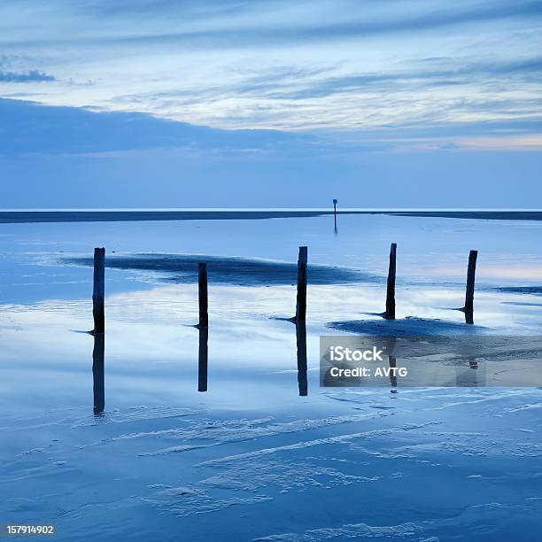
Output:
[[143,149],[288,149],[308,136],[274,130],[221,130],[139,112],[93,112],[0,98],[0,155],[85,154]]

